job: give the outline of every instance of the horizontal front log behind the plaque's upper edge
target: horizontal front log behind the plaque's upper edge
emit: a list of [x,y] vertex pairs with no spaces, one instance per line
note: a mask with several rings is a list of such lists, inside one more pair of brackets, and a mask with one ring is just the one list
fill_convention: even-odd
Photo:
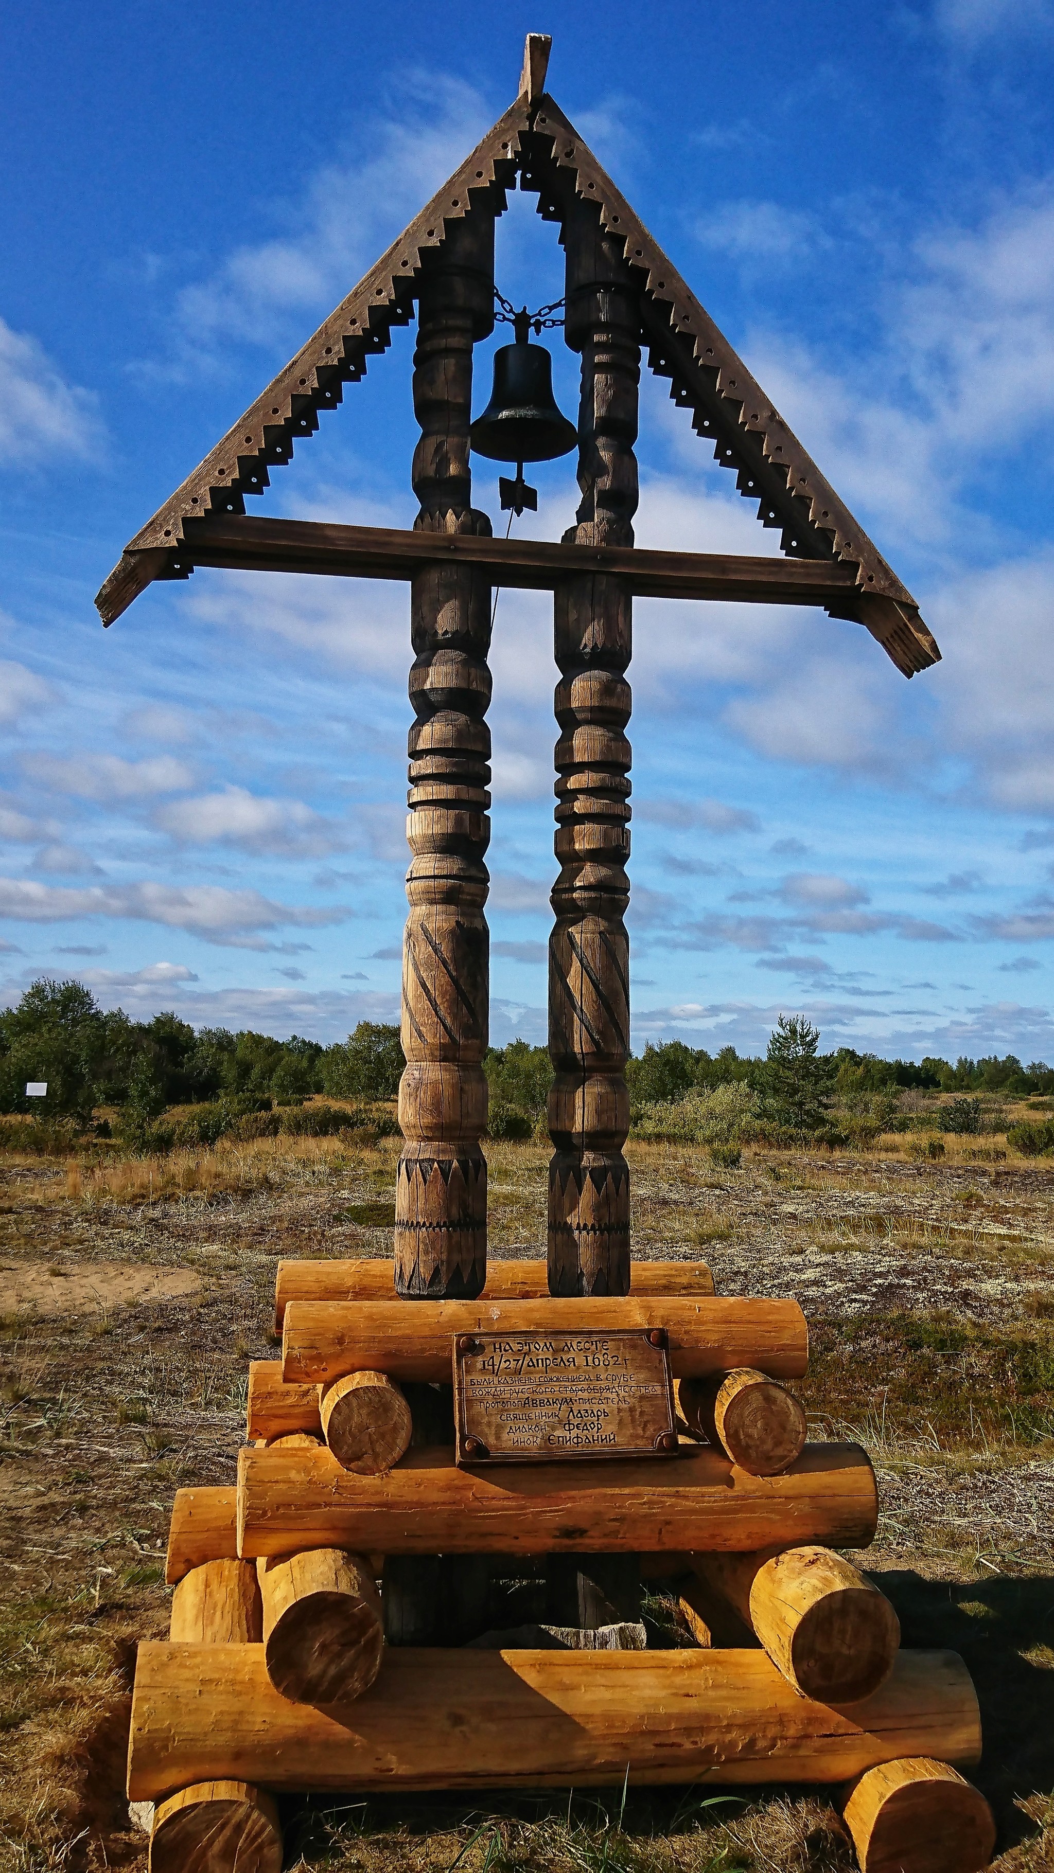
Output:
[[[580,1334],[581,1300],[289,1302],[281,1332],[287,1384],[326,1384],[343,1373],[388,1373],[450,1384],[456,1334]],[[808,1328],[795,1300],[685,1300],[632,1296],[589,1302],[591,1334],[664,1328],[677,1379],[758,1365],[775,1379],[808,1367]]]

